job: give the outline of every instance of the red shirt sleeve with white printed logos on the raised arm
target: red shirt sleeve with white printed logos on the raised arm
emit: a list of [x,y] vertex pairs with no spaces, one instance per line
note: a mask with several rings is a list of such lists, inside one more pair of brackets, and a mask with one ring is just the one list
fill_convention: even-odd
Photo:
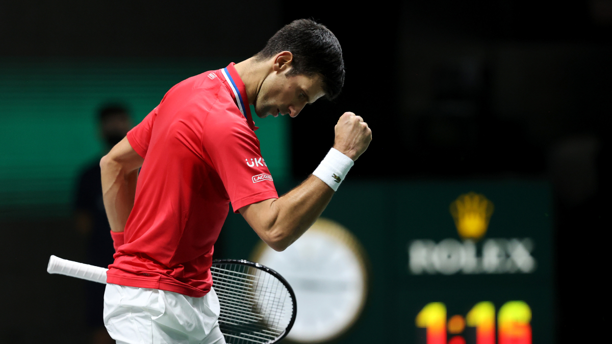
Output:
[[278,198],[278,193],[261,157],[257,136],[245,121],[228,118],[236,119],[236,114],[209,113],[202,145],[223,181],[234,212],[238,212],[248,204]]

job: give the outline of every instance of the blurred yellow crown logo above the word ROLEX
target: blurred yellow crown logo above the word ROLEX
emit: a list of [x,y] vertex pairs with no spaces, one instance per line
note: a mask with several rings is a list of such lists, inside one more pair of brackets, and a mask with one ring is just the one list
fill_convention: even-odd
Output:
[[450,214],[453,215],[459,236],[478,240],[485,235],[493,208],[493,202],[474,192],[465,193],[450,203]]

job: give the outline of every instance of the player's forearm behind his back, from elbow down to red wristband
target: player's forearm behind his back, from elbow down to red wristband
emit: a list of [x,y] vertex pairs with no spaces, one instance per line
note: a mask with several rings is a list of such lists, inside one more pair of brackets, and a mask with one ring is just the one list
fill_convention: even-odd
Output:
[[125,171],[122,165],[105,157],[100,161],[102,198],[111,230],[122,232],[134,206],[138,170]]

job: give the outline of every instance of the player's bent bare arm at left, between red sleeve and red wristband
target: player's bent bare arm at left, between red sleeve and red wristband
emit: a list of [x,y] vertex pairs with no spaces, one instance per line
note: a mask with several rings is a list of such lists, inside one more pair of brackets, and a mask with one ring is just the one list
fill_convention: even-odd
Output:
[[125,223],[134,206],[138,168],[144,159],[134,151],[124,137],[100,160],[102,198],[111,231],[125,229]]

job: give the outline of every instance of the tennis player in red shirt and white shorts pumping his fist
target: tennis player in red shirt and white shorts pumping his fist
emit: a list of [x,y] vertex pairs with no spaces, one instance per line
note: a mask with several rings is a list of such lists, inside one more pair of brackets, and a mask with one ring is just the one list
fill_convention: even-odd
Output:
[[334,148],[278,197],[249,105],[259,118],[295,117],[334,99],[344,76],[334,34],[293,21],[252,58],[176,84],[100,160],[116,249],[103,316],[117,343],[225,343],[210,267],[229,204],[282,251],[321,215],[371,141],[360,116],[342,114]]

